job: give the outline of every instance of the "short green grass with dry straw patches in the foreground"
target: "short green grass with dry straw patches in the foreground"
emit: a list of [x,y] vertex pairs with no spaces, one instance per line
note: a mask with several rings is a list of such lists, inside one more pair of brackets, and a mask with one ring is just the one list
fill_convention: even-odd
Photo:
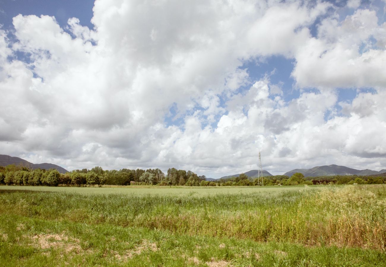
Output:
[[[0,220],[2,266],[194,266],[194,260],[201,266],[220,261],[235,266],[385,266],[386,262],[385,253],[359,248],[191,237],[16,215],[2,215]],[[39,242],[47,245],[41,247]]]

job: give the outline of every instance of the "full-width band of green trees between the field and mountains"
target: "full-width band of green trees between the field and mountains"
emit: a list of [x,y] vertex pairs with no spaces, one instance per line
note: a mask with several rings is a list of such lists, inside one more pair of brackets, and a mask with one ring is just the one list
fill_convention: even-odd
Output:
[[[315,184],[383,184],[386,176],[320,176],[304,177],[295,173],[263,177],[264,186],[294,186]],[[0,184],[24,186],[102,186],[102,185],[158,185],[158,186],[256,186],[257,178],[244,173],[237,177],[206,181],[205,176],[198,176],[192,171],[169,168],[166,175],[160,169],[120,169],[103,170],[96,166],[59,173],[56,169],[35,169],[14,164],[0,166]]]

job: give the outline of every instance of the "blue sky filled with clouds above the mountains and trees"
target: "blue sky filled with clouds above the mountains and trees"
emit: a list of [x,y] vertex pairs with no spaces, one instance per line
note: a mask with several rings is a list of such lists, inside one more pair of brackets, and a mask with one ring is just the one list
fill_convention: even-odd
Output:
[[386,0],[0,0],[0,154],[386,168]]

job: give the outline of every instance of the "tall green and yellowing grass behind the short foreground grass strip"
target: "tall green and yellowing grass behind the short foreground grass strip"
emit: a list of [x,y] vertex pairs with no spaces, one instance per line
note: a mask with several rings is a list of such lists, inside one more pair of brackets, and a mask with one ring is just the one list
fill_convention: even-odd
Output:
[[259,242],[385,251],[386,186],[176,195],[3,193],[0,214],[235,237]]

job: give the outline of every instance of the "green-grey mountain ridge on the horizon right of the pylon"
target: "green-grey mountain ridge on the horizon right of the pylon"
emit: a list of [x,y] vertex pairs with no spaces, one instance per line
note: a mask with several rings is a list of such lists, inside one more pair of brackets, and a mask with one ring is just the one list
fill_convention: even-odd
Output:
[[292,171],[288,171],[284,173],[286,176],[292,176],[296,172],[302,173],[305,177],[311,176],[330,176],[330,175],[372,175],[372,174],[381,174],[385,172],[386,170],[382,171],[372,171],[369,169],[366,170],[357,170],[352,169],[345,166],[338,166],[335,164],[332,165],[325,165],[325,166],[317,166],[313,167],[311,169],[294,169]]

